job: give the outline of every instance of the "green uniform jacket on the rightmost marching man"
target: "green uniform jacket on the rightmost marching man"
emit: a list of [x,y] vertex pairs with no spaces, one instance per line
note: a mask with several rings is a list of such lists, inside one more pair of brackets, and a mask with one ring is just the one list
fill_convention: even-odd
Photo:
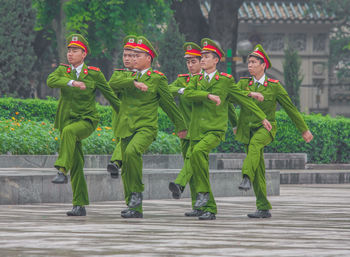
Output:
[[[288,96],[287,91],[282,87],[278,80],[269,79],[267,76],[265,76],[264,85],[260,85],[259,88],[256,88],[253,78],[241,78],[237,85],[245,92],[259,92],[264,96],[264,101],[259,102],[254,99],[254,102],[260,107],[261,110],[263,110],[267,116],[267,119],[270,121],[272,125],[270,134],[273,139],[275,138],[277,132],[277,122],[275,117],[277,103],[282,105],[300,132],[308,130],[308,127],[301,117],[298,109],[294,106]],[[257,120],[257,118],[252,115],[247,108],[242,106],[238,120],[236,140],[244,144],[248,144],[250,139],[250,129],[247,128],[257,128],[260,126],[260,121]]]

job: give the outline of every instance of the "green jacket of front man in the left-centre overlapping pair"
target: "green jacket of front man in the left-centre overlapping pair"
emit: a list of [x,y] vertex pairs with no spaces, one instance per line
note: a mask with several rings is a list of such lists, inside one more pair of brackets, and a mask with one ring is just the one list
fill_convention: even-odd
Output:
[[149,69],[140,82],[148,86],[143,92],[134,86],[136,73],[131,77],[112,76],[109,85],[121,96],[121,105],[117,120],[116,134],[120,138],[131,136],[140,129],[158,132],[158,106],[160,106],[175,124],[176,130],[186,130],[186,125],[169,92],[168,79],[163,73]]

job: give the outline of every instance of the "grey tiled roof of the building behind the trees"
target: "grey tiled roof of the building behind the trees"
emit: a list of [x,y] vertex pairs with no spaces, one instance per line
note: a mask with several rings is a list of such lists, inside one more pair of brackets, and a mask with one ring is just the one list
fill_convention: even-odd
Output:
[[238,10],[240,23],[329,23],[333,15],[311,1],[275,0],[244,1]]

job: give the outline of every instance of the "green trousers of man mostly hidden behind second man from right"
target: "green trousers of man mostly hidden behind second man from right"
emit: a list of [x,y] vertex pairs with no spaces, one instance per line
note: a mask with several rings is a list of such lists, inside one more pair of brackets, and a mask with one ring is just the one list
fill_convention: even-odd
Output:
[[190,140],[189,139],[181,139],[181,152],[182,157],[184,159],[184,166],[182,167],[180,173],[177,175],[174,183],[179,184],[183,187],[189,183],[190,190],[191,190],[191,199],[192,199],[192,208],[196,202],[196,191],[195,186],[192,179],[192,169],[191,169],[191,163],[190,158],[186,158],[188,152],[188,149],[190,147]]

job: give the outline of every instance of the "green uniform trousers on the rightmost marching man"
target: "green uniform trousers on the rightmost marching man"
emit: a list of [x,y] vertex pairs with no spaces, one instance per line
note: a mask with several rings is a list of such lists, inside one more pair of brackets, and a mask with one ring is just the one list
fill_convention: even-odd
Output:
[[267,200],[265,180],[264,147],[271,143],[272,137],[264,128],[251,130],[249,144],[246,145],[247,157],[243,162],[242,174],[248,175],[253,184],[258,210],[272,209]]

